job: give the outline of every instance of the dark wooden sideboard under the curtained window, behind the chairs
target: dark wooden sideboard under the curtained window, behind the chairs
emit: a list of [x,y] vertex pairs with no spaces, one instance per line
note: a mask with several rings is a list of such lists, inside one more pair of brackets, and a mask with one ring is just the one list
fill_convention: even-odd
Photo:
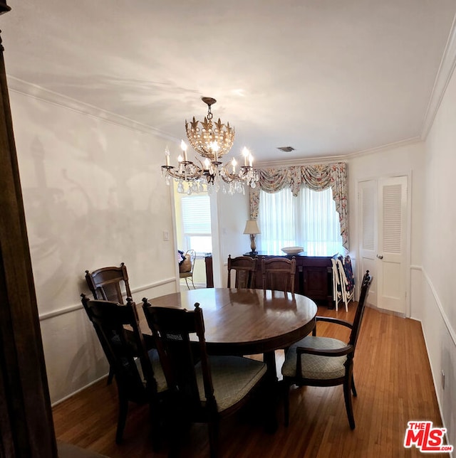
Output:
[[[249,256],[249,253],[245,254]],[[263,277],[261,275],[261,258],[286,257],[291,259],[293,256],[273,256],[257,255],[257,272],[255,274],[255,288],[263,287]],[[310,297],[315,302],[325,303],[328,309],[334,307],[333,303],[333,275],[331,256],[299,256],[296,257],[296,276],[294,279],[294,289],[298,294]],[[207,256],[206,261],[206,278],[207,287],[213,287],[212,280],[212,256]]]

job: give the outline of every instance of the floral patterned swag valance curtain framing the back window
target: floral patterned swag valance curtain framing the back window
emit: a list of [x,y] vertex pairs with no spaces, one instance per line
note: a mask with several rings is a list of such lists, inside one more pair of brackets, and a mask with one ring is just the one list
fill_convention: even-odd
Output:
[[259,191],[275,193],[289,187],[297,196],[301,186],[322,191],[331,186],[341,223],[342,245],[348,250],[347,168],[345,162],[293,166],[285,169],[260,169],[259,188],[250,188],[250,218],[258,218]]

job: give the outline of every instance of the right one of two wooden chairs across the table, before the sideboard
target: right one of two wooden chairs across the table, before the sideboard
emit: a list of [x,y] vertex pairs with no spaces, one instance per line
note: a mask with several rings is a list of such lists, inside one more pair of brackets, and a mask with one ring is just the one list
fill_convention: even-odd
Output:
[[294,276],[296,273],[296,257],[261,258],[263,289],[276,289],[294,294]]

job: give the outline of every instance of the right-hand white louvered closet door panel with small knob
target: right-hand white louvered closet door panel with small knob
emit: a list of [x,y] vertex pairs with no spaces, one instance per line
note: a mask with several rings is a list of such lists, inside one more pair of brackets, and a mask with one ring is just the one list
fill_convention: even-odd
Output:
[[378,181],[378,307],[406,312],[407,177]]

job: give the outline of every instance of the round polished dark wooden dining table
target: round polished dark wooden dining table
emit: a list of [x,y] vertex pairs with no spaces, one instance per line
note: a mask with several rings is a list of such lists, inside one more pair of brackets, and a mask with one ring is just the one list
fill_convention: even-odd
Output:
[[[274,350],[304,338],[315,326],[317,307],[312,299],[289,292],[263,289],[207,288],[166,294],[149,300],[153,307],[192,310],[195,303],[204,317],[209,354],[263,353],[269,371],[275,371]],[[143,333],[149,333],[140,314]]]

